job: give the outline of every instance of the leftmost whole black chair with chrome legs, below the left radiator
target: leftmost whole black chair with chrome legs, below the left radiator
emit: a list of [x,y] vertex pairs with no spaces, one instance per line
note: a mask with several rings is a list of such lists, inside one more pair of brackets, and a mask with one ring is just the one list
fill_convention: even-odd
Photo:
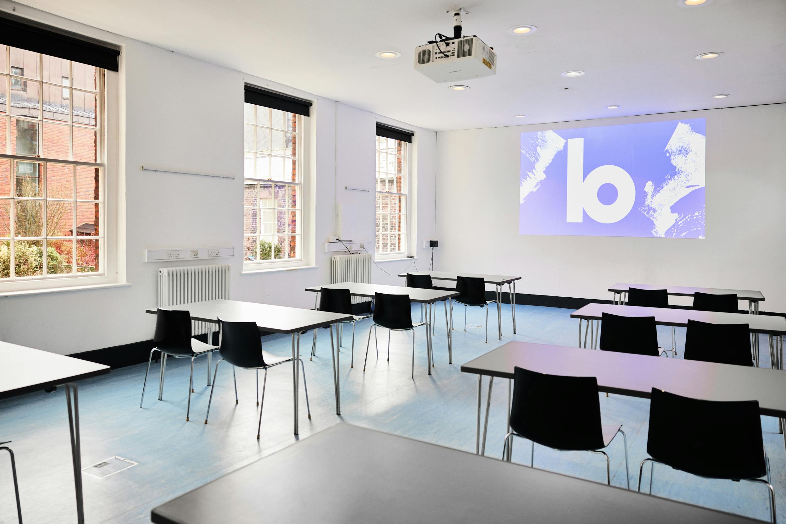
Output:
[[[191,394],[194,390],[194,359],[200,355],[210,355],[219,347],[191,338],[191,314],[188,311],[162,310],[161,308],[156,311],[156,333],[153,335],[152,341],[156,343],[156,347],[150,350],[148,368],[145,371],[145,382],[142,383],[142,398],[139,400],[139,407],[142,407],[142,401],[145,400],[145,386],[147,385],[147,376],[150,372],[153,351],[159,351],[161,354],[161,370],[158,383],[159,400],[163,400],[163,374],[167,368],[167,357],[190,358],[189,404],[185,409],[185,422],[188,422],[189,413],[191,412]],[[210,368],[208,368],[209,385]]]

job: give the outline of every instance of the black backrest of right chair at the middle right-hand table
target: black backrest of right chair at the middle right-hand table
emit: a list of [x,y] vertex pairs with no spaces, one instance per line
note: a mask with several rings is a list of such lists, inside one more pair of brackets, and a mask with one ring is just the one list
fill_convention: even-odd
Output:
[[688,321],[685,360],[752,366],[751,328],[748,324],[710,324]]

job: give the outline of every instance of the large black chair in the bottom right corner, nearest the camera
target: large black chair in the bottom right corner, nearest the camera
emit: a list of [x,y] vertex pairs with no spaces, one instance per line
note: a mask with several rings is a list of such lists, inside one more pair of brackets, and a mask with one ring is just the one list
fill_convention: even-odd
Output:
[[[676,434],[679,445],[674,445]],[[705,401],[653,387],[647,453],[652,458],[641,461],[638,491],[646,462],[652,464],[650,494],[655,463],[704,478],[761,482],[769,488],[775,522],[775,492],[769,480],[758,401]]]

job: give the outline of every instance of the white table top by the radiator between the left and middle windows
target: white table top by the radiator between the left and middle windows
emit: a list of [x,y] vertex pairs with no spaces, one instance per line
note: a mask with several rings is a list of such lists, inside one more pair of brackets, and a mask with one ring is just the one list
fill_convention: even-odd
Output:
[[[351,321],[352,315],[303,310],[299,307],[273,306],[238,300],[207,300],[178,304],[167,309],[188,310],[195,321],[213,322],[218,319],[230,322],[255,322],[260,329],[273,333],[294,333],[320,328],[336,322]],[[145,310],[156,314],[156,308]]]

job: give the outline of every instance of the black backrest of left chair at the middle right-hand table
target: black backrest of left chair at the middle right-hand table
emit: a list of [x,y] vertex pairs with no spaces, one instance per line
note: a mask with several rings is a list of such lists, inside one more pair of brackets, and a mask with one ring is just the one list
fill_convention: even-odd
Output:
[[658,357],[655,317],[621,317],[603,313],[598,347],[604,351]]

